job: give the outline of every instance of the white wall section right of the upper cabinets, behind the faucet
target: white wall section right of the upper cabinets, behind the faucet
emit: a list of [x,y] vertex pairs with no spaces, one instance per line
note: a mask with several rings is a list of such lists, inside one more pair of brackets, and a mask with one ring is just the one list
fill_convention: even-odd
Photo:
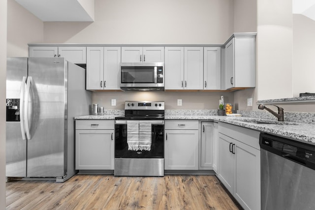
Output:
[[257,0],[257,99],[292,97],[292,2]]

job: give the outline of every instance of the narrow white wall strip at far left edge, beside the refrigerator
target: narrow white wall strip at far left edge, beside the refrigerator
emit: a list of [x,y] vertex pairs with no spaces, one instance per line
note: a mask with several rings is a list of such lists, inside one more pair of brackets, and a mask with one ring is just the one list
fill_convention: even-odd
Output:
[[0,210],[5,210],[5,78],[6,78],[7,2],[0,1]]

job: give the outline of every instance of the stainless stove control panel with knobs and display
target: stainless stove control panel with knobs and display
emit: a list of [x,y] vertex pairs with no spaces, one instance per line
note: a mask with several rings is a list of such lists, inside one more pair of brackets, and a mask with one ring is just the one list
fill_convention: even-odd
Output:
[[164,110],[164,101],[126,101],[125,110]]

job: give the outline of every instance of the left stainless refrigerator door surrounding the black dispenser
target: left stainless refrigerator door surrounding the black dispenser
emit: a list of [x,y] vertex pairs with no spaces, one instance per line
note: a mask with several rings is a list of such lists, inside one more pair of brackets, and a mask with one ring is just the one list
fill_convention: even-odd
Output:
[[[27,74],[28,58],[7,59],[6,98],[21,98],[22,79],[27,77]],[[8,109],[6,111],[8,112]],[[6,122],[6,177],[26,177],[27,141],[22,139],[20,123],[20,121]]]

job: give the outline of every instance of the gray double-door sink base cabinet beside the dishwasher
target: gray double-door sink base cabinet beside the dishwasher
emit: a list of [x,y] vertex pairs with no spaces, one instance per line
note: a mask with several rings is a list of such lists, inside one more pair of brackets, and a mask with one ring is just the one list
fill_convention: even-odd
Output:
[[245,210],[260,210],[259,134],[219,122],[217,176]]

